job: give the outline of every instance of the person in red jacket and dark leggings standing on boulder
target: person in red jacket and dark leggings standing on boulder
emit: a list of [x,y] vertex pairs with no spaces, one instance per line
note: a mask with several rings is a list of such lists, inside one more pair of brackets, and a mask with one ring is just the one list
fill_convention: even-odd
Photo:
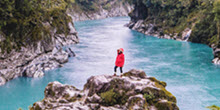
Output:
[[117,50],[117,58],[116,58],[116,61],[115,61],[115,68],[114,68],[114,76],[116,76],[116,72],[117,72],[117,68],[120,67],[120,71],[121,71],[121,76],[122,76],[122,73],[123,73],[123,66],[124,66],[124,62],[125,62],[125,57],[124,57],[124,49],[123,48],[120,48]]

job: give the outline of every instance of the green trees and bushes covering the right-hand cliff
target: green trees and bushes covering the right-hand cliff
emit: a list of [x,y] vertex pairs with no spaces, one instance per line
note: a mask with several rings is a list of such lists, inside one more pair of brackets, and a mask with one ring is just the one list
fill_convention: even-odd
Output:
[[[139,10],[139,19],[152,23],[162,34],[192,29],[192,42],[220,47],[220,0],[130,0]],[[145,11],[143,11],[145,10]],[[136,19],[133,13],[131,18]]]

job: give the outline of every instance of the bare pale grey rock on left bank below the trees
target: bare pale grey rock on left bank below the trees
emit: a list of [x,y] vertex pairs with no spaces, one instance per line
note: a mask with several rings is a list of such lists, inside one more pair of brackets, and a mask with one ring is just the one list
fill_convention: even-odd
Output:
[[62,46],[78,42],[73,23],[69,23],[69,28],[70,33],[66,37],[64,34],[53,34],[50,41],[39,41],[36,45],[0,54],[0,85],[20,76],[42,77],[44,71],[66,63],[68,57],[75,54],[70,48],[63,50]]

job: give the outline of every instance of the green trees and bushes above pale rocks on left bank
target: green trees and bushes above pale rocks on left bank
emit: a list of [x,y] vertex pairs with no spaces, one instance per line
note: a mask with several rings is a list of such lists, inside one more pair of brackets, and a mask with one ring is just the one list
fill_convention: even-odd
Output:
[[71,17],[66,14],[74,0],[1,0],[0,42],[3,52],[19,49],[39,40],[50,41],[51,30],[69,33]]

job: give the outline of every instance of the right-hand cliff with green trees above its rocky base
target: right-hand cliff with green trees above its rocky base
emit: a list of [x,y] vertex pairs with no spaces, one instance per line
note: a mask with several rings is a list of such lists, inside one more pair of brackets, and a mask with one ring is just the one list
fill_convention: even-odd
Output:
[[[131,0],[130,29],[159,38],[191,41],[213,48],[213,63],[220,64],[219,1]],[[218,3],[219,2],[219,3]]]

